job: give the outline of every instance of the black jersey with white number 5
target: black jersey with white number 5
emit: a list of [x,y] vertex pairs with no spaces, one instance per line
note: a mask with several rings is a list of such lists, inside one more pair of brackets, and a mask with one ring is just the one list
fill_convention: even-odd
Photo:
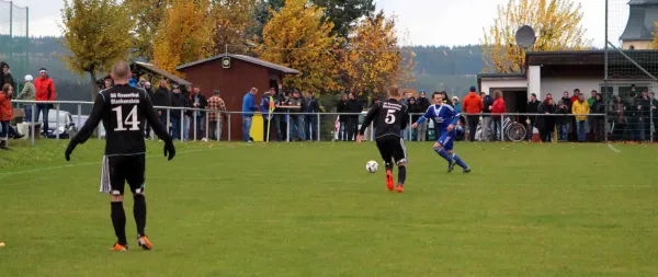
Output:
[[359,134],[363,135],[373,120],[377,120],[375,139],[385,136],[400,137],[409,124],[409,108],[395,99],[379,101],[367,112]]

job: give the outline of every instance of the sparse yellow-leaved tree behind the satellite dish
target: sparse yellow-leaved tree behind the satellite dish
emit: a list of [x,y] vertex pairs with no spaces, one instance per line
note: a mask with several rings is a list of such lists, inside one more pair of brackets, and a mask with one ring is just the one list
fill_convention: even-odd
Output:
[[521,72],[525,50],[517,45],[517,30],[530,25],[536,42],[531,51],[588,49],[591,41],[585,38],[581,5],[572,0],[509,0],[498,7],[498,18],[483,39],[483,60],[488,72]]

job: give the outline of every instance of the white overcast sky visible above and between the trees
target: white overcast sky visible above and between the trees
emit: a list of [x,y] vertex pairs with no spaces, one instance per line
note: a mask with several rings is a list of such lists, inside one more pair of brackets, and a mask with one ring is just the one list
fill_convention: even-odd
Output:
[[[400,31],[409,32],[413,45],[478,44],[483,27],[496,16],[496,7],[508,0],[375,0],[377,9],[398,15]],[[582,4],[583,25],[594,46],[603,46],[604,0],[574,0]],[[13,0],[30,7],[30,33],[59,35],[57,22],[64,0]],[[610,39],[616,42],[628,16],[627,0],[610,0]]]

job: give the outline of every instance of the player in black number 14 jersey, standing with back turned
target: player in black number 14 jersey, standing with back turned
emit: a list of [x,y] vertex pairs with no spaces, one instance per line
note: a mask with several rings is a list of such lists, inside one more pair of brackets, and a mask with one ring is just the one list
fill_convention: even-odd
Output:
[[77,145],[84,143],[91,137],[99,123],[105,127],[105,155],[101,172],[101,192],[112,195],[111,217],[117,242],[112,250],[126,251],[126,215],[123,208],[125,182],[131,186],[135,199],[133,215],[137,224],[137,245],[150,250],[152,244],[146,236],[146,198],[145,188],[145,155],[146,143],[141,132],[148,120],[156,134],[164,141],[164,157],[169,160],[175,155],[171,136],[158,118],[150,99],[143,89],[128,85],[131,78],[128,64],[120,61],[112,68],[114,86],[99,92],[91,115],[78,135],[73,137],[66,149],[66,160],[70,161],[71,152]]

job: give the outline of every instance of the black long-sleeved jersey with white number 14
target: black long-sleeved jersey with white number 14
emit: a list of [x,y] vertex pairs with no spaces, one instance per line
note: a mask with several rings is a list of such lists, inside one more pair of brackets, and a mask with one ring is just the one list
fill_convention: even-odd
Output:
[[89,119],[72,140],[84,143],[100,122],[105,127],[105,155],[144,154],[144,124],[164,141],[171,140],[146,91],[120,84],[99,92]]

